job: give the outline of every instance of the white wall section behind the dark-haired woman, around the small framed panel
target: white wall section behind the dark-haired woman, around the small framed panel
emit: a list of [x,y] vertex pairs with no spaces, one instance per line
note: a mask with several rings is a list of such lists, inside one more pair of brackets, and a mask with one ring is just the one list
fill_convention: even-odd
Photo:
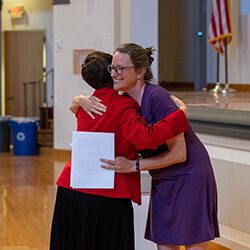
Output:
[[[70,149],[76,119],[69,111],[73,98],[93,90],[81,75],[73,74],[73,50],[95,49],[113,53],[114,0],[74,0],[54,5],[54,148]],[[62,47],[57,44],[61,42]]]

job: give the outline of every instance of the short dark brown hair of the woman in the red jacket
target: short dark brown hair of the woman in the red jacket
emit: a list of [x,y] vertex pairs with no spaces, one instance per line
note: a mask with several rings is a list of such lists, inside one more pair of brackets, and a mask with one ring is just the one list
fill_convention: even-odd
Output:
[[82,64],[83,80],[94,89],[113,88],[113,79],[107,70],[107,66],[111,62],[112,56],[110,54],[101,51],[91,52]]

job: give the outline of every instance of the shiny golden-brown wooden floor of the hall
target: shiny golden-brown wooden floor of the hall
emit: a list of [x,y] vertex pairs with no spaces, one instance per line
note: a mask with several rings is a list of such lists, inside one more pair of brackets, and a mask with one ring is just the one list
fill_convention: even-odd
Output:
[[[69,159],[52,148],[37,156],[0,153],[1,250],[48,250],[55,182]],[[210,250],[226,249],[211,243]]]

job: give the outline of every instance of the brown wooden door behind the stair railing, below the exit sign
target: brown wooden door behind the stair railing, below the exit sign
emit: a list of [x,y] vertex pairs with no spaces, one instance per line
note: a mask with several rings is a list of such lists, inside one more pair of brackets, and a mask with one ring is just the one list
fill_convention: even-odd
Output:
[[[36,82],[43,76],[44,37],[44,31],[4,32],[6,115],[25,115],[23,83]],[[39,116],[39,98],[34,88],[27,96],[28,116]]]

